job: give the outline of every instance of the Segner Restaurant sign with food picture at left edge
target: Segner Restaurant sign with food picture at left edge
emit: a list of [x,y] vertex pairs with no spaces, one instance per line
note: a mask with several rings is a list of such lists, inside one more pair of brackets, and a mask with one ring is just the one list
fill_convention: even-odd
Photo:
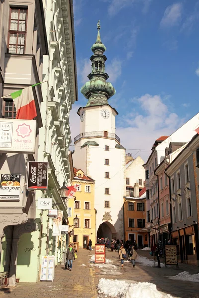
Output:
[[21,175],[1,174],[0,175],[0,200],[20,200]]

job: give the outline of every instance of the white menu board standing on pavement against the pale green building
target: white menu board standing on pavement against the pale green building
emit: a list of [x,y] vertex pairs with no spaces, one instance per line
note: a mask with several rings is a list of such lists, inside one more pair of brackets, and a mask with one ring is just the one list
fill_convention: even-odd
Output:
[[55,257],[43,256],[41,264],[40,281],[53,281],[55,271]]

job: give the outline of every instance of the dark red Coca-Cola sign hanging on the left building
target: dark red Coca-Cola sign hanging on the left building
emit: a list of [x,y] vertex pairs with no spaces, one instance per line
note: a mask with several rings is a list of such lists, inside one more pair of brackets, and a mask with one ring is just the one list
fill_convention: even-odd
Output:
[[48,187],[48,162],[28,163],[27,189],[47,189]]

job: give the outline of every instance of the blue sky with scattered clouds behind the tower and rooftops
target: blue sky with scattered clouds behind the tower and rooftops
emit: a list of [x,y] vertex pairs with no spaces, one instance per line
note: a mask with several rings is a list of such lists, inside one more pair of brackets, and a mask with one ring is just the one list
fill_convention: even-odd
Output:
[[117,134],[135,149],[127,152],[146,161],[144,150],[155,139],[199,111],[199,1],[74,0],[74,15],[79,100],[70,116],[72,140],[79,134],[76,112],[86,105],[80,88],[91,71],[100,19]]

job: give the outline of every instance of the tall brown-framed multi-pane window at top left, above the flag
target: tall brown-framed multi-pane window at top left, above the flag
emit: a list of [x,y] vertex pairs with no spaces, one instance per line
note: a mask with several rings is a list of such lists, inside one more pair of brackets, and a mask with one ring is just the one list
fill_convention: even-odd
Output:
[[12,54],[25,54],[27,33],[27,9],[10,7],[8,51]]

